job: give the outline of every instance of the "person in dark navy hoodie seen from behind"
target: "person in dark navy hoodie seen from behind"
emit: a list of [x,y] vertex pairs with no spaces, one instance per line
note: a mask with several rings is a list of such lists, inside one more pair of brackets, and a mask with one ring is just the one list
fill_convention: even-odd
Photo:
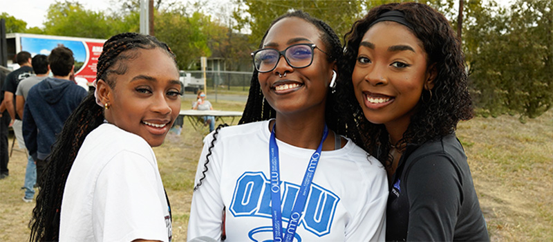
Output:
[[87,94],[69,80],[75,68],[73,51],[58,46],[48,56],[48,62],[53,77],[47,77],[29,90],[23,119],[23,136],[30,156],[37,162],[39,186],[57,133]]

